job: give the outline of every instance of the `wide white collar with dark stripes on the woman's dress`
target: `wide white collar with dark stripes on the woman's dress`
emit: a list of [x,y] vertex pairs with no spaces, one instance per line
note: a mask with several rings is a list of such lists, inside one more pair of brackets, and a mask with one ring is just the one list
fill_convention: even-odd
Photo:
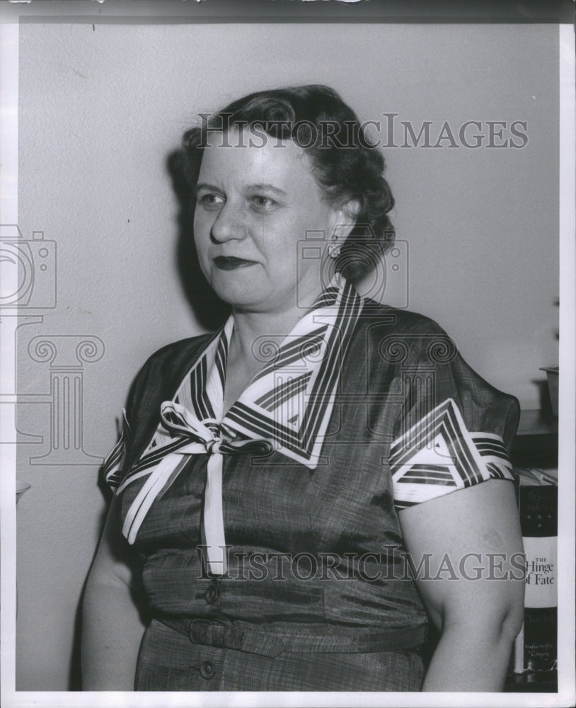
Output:
[[[173,402],[190,411],[224,440],[272,442],[277,452],[314,469],[332,413],[340,370],[350,333],[364,299],[341,275],[330,285],[283,341],[255,342],[263,368],[225,416],[226,360],[234,316],[214,334],[178,387]],[[163,455],[190,440],[159,423],[156,431],[120,485],[119,491]]]

